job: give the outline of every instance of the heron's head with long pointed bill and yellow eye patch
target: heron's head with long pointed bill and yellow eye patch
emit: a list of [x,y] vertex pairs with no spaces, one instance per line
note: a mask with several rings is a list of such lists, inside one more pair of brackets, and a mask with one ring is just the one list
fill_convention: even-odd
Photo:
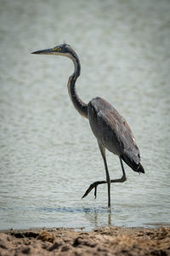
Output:
[[73,55],[77,55],[69,44],[59,44],[54,48],[40,49],[32,52],[35,55],[62,55],[71,58]]

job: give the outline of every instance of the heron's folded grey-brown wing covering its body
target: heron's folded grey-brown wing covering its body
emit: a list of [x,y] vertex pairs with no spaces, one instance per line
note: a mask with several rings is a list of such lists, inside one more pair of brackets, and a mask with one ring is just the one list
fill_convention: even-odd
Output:
[[139,164],[139,148],[126,119],[99,97],[88,103],[88,119],[94,136],[113,154],[125,155]]

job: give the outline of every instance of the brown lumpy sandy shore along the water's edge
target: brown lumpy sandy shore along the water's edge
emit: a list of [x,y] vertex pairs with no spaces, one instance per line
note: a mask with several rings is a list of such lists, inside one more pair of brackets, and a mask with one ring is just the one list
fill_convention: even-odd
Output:
[[170,227],[0,231],[0,255],[170,255]]

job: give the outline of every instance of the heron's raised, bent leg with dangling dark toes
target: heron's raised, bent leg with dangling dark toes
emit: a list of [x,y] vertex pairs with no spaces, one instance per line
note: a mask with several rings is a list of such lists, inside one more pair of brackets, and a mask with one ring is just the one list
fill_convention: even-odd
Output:
[[[127,180],[127,177],[126,177],[126,174],[125,174],[125,171],[124,171],[124,167],[123,167],[123,164],[122,164],[122,159],[120,158],[120,162],[121,162],[121,166],[122,166],[122,177],[121,178],[116,178],[116,179],[111,179],[111,183],[124,183],[126,180]],[[96,198],[96,195],[97,195],[97,186],[99,184],[104,184],[104,183],[107,183],[107,181],[105,180],[102,180],[102,181],[97,181],[95,183],[92,183],[89,188],[86,190],[86,192],[84,193],[84,195],[82,195],[82,198],[86,197],[90,191],[92,189],[94,189],[94,197]]]

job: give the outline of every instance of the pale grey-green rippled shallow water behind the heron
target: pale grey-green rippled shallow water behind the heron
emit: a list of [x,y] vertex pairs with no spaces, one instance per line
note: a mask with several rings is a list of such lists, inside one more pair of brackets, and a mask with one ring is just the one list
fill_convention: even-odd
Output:
[[[0,229],[169,224],[169,1],[1,1]],[[81,199],[105,170],[88,120],[71,106],[70,60],[31,55],[65,40],[82,63],[77,91],[126,117],[144,175]],[[107,154],[111,178],[121,177]]]

